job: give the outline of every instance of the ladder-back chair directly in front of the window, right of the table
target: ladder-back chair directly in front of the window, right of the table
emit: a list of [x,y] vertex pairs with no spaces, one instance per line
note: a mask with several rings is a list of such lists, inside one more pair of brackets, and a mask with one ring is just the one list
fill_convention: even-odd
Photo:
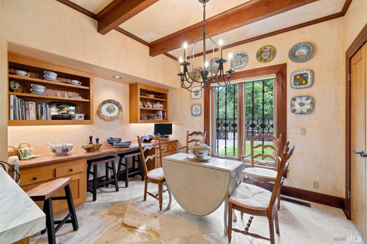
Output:
[[[273,140],[273,145],[258,144],[254,146],[254,141],[259,140],[261,138],[264,140],[271,138]],[[282,145],[282,135],[280,134],[279,138],[276,138],[272,135],[262,135],[262,134],[256,137],[253,137],[251,134],[250,143],[251,143],[251,153],[246,156],[242,156],[242,162],[246,162],[245,158],[247,158],[248,156],[251,156],[251,167],[248,167],[248,168],[244,167],[243,169],[244,181],[250,178],[251,182],[253,181],[258,181],[262,183],[275,182],[277,171],[279,169],[279,162],[280,162],[280,160],[278,159],[278,156],[281,154],[284,148]],[[271,148],[273,149],[273,155],[269,155],[269,154],[256,154],[255,155],[254,151],[256,148],[264,148],[264,149]],[[275,170],[264,169],[262,167],[255,167],[255,158],[257,157],[270,158],[274,160]],[[259,161],[261,162],[262,160],[259,160]],[[279,209],[280,209],[280,192],[278,196],[278,210]]]

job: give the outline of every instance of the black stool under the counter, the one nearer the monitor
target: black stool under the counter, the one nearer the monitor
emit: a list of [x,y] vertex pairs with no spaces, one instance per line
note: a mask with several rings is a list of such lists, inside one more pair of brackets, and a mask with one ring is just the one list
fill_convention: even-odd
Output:
[[[117,154],[117,156],[120,157],[119,161],[119,167],[117,169],[117,177],[119,180],[125,181],[125,187],[129,186],[129,175],[135,175],[137,173],[140,173],[141,180],[144,180],[144,169],[143,169],[143,163],[141,161],[141,155],[139,151],[132,151],[132,152],[123,152],[120,154]],[[135,159],[135,156],[138,156],[138,159]],[[129,158],[132,157],[132,170],[129,172]],[[125,158],[125,163],[122,162],[122,159]],[[135,168],[135,163],[139,163],[140,169]],[[125,166],[125,179],[120,177],[120,170],[121,166]]]

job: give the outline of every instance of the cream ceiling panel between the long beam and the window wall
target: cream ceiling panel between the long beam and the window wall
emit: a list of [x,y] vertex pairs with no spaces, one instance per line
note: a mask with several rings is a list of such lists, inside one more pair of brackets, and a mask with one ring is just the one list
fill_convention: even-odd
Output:
[[[229,32],[225,32],[218,36],[214,36],[212,39],[217,42],[217,44],[219,38],[222,38],[224,45],[232,44],[238,41],[246,40],[248,38],[257,37],[262,34],[338,13],[342,10],[344,3],[345,0],[319,0],[314,3],[295,8],[294,10],[290,10],[282,14],[251,23],[249,25],[239,27]],[[208,25],[208,29],[210,29],[210,25]],[[206,44],[207,50],[210,49],[211,47],[208,45],[211,44],[211,42],[207,41]],[[269,43],[264,43],[264,45],[266,44]],[[192,47],[193,44],[188,45],[188,55],[190,55]],[[201,52],[203,52],[202,41],[198,42],[195,46],[195,53]],[[183,48],[175,49],[168,53],[175,56],[176,58],[179,58],[183,55]],[[211,58],[212,57],[208,57],[207,59],[209,60]]]

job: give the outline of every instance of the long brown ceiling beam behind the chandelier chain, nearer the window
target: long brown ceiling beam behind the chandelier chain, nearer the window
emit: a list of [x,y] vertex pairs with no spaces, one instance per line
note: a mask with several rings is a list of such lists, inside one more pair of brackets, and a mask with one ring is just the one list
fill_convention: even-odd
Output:
[[[208,18],[207,34],[216,36],[313,3],[317,0],[251,0],[230,10]],[[210,3],[208,3],[210,4]],[[149,55],[157,56],[181,47],[183,42],[192,44],[201,35],[201,22],[149,43]]]

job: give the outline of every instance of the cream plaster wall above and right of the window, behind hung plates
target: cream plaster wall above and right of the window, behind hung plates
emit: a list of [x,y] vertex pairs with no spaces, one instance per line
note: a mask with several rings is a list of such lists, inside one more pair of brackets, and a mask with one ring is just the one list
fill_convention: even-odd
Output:
[[[337,18],[223,51],[224,57],[229,52],[246,52],[248,63],[243,70],[287,63],[287,140],[295,145],[295,151],[284,185],[338,197],[345,194],[345,54],[340,50],[344,47],[343,36],[343,19]],[[313,55],[304,63],[294,63],[288,52],[302,41],[312,44]],[[263,45],[276,49],[275,58],[266,64],[256,60],[256,52]],[[202,62],[202,56],[197,59],[195,62]],[[228,70],[227,65],[224,67]],[[292,89],[290,75],[302,69],[312,70],[313,84]],[[301,95],[313,97],[314,110],[307,115],[294,115],[290,100]],[[300,127],[306,127],[305,136],[300,135]],[[312,188],[313,180],[319,181],[319,189]]]

